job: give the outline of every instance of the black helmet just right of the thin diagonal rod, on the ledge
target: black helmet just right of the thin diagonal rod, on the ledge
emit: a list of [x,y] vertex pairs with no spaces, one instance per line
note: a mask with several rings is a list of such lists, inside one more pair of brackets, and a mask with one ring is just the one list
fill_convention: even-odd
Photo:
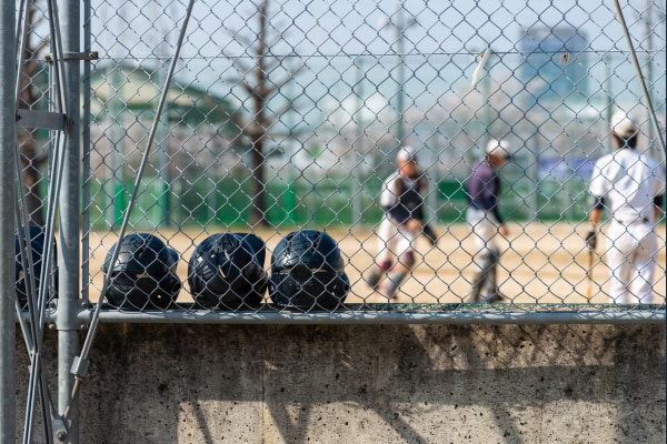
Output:
[[111,264],[113,244],[102,271],[110,274],[104,296],[110,305],[126,310],[166,310],[181,289],[176,274],[178,252],[149,233],[128,234],[118,246]]

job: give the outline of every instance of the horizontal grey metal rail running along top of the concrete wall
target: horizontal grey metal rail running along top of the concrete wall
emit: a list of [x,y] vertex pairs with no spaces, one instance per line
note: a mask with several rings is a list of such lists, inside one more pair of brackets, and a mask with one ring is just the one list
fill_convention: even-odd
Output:
[[[102,310],[107,323],[211,323],[211,324],[660,324],[666,322],[664,304],[346,304],[329,311],[288,311],[267,306],[259,311],[185,310],[129,312]],[[27,313],[24,313],[27,316]],[[87,329],[92,310],[78,314]],[[49,311],[47,324],[57,322]]]

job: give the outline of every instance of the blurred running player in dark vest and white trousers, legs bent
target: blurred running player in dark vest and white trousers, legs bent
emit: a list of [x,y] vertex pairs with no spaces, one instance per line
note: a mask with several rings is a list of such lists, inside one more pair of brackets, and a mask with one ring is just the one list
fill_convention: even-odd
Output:
[[[399,150],[398,170],[387,178],[380,193],[385,218],[377,231],[378,255],[366,282],[387,299],[395,299],[400,284],[415,265],[414,244],[425,233],[431,244],[436,236],[424,223],[424,192],[428,181],[417,164],[417,152],[411,147]],[[387,281],[380,284],[382,278]]]

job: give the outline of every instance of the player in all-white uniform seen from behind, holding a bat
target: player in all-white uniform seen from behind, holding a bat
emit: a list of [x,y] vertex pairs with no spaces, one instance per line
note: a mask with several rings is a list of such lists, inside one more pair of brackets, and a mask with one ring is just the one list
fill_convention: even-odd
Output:
[[614,152],[595,162],[588,191],[593,208],[586,244],[597,246],[607,210],[607,265],[611,303],[653,303],[658,238],[655,223],[665,195],[665,172],[654,158],[636,150],[639,129],[623,111],[611,117]]

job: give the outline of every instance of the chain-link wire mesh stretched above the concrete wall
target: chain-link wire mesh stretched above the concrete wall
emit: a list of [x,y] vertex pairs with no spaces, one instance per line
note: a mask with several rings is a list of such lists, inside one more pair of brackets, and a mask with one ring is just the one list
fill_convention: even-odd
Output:
[[[499,310],[635,302],[609,296],[607,253],[617,249],[614,238],[604,240],[609,224],[601,225],[593,254],[586,244],[588,183],[595,161],[614,151],[610,119],[617,110],[638,123],[637,151],[665,169],[656,139],[657,131],[665,137],[664,1],[624,6],[659,129],[649,119],[610,2],[199,1],[166,87],[186,8],[186,2],[92,3],[90,50],[100,58],[84,79],[91,120],[86,129],[91,143],[83,147],[90,162],[83,178],[90,195],[86,297],[97,301],[104,270],[118,265],[130,281],[111,280],[117,294],[129,297],[141,287],[132,280],[148,279],[153,283],[146,297],[155,296],[158,281],[175,273],[181,287],[169,306],[198,309],[197,282],[222,294],[255,261],[266,276],[255,275],[250,290],[231,291],[242,299],[269,279],[259,302],[207,306],[337,306],[308,297],[276,303],[309,292],[346,304],[381,304],[378,310],[398,306],[387,302],[475,310],[492,302],[485,297],[494,291],[504,297]],[[39,78],[38,72],[32,82]],[[149,147],[162,93],[167,103]],[[499,139],[512,154],[497,170],[497,215],[507,233],[488,250],[479,245],[484,221],[468,223],[467,190],[479,179],[472,171],[488,143]],[[409,219],[405,211],[381,228],[385,180],[397,171],[404,147],[416,150],[416,176],[422,179],[404,186],[425,184],[422,204],[412,195],[401,205],[419,206],[412,215],[434,229],[435,245],[401,225]],[[130,209],[146,150],[148,168]],[[491,213],[484,212],[496,218]],[[175,252],[156,274],[147,270],[161,253],[132,255],[146,245],[121,250],[125,259],[104,265],[126,216],[129,234],[150,233]],[[608,211],[605,220],[611,216]],[[650,221],[656,278],[653,297],[638,301],[643,304],[664,304],[664,222],[663,212]],[[494,220],[490,230],[505,230],[499,226]],[[319,238],[299,241],[303,230],[336,240],[342,272],[330,256],[336,252],[320,251],[326,246]],[[196,254],[221,233],[252,233],[262,244],[258,250],[228,240]],[[290,236],[297,246],[286,242]],[[394,246],[397,240],[404,245]],[[384,246],[396,253],[392,262],[378,256]],[[252,261],[238,260],[248,250]],[[137,269],[130,272],[128,264]],[[279,280],[286,269],[289,280]],[[318,274],[329,269],[337,271]],[[376,285],[378,271],[385,279]],[[476,294],[480,273],[492,273],[496,289]]]

